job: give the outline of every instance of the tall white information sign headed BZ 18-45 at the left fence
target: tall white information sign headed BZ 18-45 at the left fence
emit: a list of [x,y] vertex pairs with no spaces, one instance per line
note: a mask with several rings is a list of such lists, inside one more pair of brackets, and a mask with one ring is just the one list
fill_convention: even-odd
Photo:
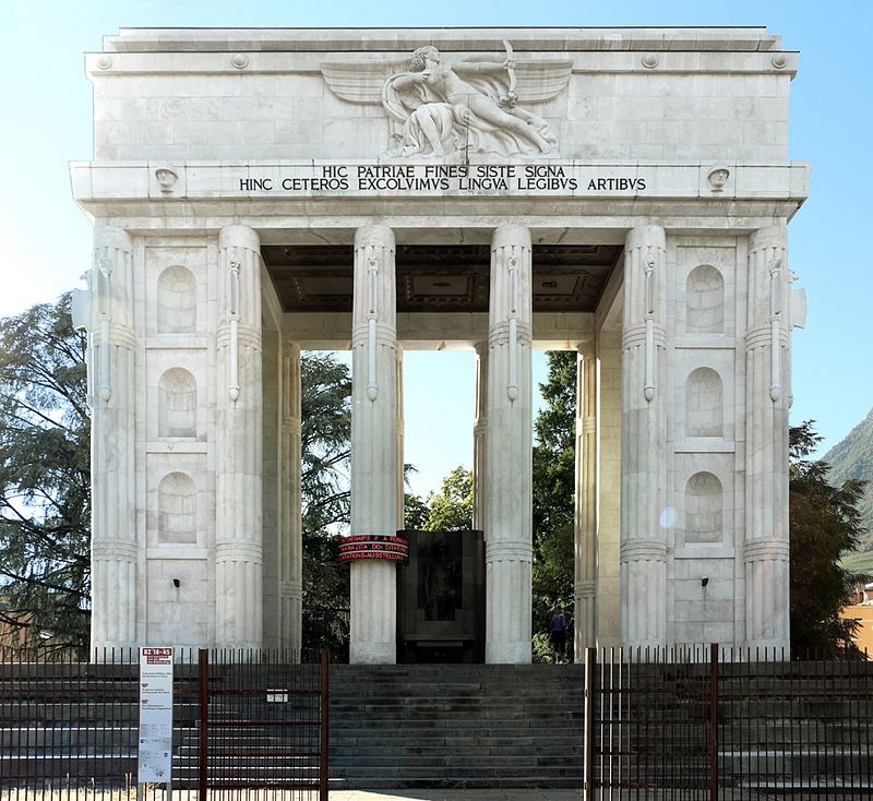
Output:
[[140,782],[170,784],[172,648],[140,650]]

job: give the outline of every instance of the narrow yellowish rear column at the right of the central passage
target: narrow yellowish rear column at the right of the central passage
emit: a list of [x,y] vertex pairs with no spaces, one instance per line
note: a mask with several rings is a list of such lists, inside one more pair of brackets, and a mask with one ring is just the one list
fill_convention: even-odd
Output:
[[576,661],[597,645],[597,358],[594,340],[578,346],[576,360]]

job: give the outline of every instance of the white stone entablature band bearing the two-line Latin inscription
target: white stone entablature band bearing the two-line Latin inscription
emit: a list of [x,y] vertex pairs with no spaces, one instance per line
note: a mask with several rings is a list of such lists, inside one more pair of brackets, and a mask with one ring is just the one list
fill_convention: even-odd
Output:
[[[677,230],[753,230],[794,214],[809,193],[810,166],[557,159],[94,162],[72,164],[71,179],[76,202],[94,219],[144,231],[241,224],[262,231],[270,242],[273,230],[284,231],[283,238],[289,230],[354,230],[374,217],[398,229],[431,231],[485,232],[519,217],[531,229],[550,230],[624,230],[642,218],[657,218]],[[315,235],[313,241],[324,239]]]

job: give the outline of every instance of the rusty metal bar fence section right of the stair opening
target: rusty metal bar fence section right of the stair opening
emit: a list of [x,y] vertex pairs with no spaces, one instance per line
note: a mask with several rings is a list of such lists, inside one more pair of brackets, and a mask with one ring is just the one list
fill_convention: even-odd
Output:
[[585,682],[586,799],[873,798],[873,662],[589,648]]

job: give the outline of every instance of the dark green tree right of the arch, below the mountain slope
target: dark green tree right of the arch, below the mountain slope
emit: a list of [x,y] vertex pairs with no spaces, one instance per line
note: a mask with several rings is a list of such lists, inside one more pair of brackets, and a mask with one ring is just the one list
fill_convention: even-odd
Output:
[[853,579],[838,560],[863,531],[858,502],[866,482],[828,483],[830,466],[809,458],[822,439],[812,426],[792,427],[789,441],[791,645],[836,656],[854,650],[858,623],[840,618]]

